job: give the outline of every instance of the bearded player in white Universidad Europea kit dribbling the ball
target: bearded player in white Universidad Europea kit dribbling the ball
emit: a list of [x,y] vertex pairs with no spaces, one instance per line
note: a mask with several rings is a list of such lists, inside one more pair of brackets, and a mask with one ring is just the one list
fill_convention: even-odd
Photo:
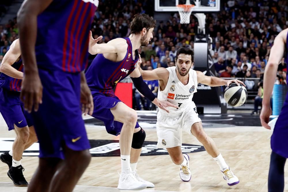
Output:
[[157,68],[153,71],[143,71],[141,75],[145,80],[159,80],[158,99],[167,100],[178,105],[177,109],[170,109],[170,113],[159,109],[157,114],[157,136],[158,148],[166,148],[172,161],[180,165],[180,178],[183,181],[191,179],[189,170],[189,156],[182,154],[182,130],[194,135],[204,146],[206,151],[219,165],[227,184],[232,186],[239,183],[239,179],[233,174],[225,163],[214,140],[204,131],[201,119],[198,117],[196,106],[192,101],[193,94],[197,92],[198,83],[209,86],[221,86],[230,83],[243,82],[233,79],[224,80],[217,77],[205,76],[200,71],[191,69],[193,66],[193,51],[187,48],[180,48],[176,54],[176,61],[173,67]]

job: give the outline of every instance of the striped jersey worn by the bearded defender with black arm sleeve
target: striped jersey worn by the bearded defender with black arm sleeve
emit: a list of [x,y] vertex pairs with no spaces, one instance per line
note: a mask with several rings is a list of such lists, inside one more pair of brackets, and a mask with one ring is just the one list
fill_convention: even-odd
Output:
[[135,50],[135,59],[133,60],[131,41],[128,37],[123,39],[126,39],[128,47],[122,61],[110,61],[103,54],[98,54],[92,61],[86,71],[86,80],[90,89],[113,97],[115,96],[113,91],[115,85],[134,71],[139,54]]

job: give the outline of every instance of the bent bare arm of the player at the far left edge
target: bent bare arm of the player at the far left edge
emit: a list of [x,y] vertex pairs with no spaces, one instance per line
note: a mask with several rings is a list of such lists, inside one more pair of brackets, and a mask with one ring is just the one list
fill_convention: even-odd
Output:
[[23,79],[23,73],[11,66],[16,62],[16,60],[20,57],[20,55],[21,55],[20,43],[19,39],[16,39],[10,45],[9,50],[7,51],[2,60],[0,66],[0,72],[16,79]]

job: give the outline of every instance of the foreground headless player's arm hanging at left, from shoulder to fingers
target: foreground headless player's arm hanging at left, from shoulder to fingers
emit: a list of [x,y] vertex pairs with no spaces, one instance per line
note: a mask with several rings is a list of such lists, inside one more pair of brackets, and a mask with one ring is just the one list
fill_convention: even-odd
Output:
[[29,113],[37,111],[42,103],[42,84],[38,74],[35,43],[37,37],[37,16],[43,12],[53,0],[25,0],[17,14],[22,59],[25,64],[25,77],[22,81],[20,98],[24,109]]

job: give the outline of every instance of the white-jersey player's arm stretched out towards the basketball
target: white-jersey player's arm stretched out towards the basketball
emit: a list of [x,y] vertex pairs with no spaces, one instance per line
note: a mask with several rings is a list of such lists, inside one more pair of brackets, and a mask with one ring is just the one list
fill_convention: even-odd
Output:
[[225,79],[221,79],[218,77],[206,76],[201,71],[196,71],[196,73],[197,73],[198,83],[209,85],[210,87],[216,87],[216,86],[222,86],[222,85],[229,86],[231,83],[236,83],[237,85],[240,85],[241,83],[242,85],[246,86],[242,81],[238,79],[225,80]]

